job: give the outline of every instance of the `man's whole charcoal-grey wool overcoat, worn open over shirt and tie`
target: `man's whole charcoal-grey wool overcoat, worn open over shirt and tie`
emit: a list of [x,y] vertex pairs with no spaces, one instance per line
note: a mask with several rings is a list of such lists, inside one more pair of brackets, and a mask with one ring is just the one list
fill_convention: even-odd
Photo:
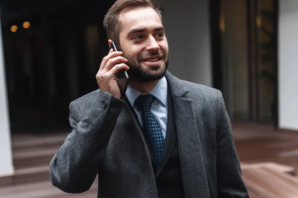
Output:
[[[166,73],[186,198],[247,198],[219,90]],[[100,198],[157,198],[149,150],[124,101],[96,90],[70,104],[73,127],[50,163],[54,186]]]

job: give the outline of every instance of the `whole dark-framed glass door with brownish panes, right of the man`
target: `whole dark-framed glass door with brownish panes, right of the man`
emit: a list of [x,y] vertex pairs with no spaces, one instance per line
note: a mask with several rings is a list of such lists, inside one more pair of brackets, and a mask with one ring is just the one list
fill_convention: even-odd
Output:
[[277,0],[212,0],[211,22],[214,87],[230,119],[277,127]]

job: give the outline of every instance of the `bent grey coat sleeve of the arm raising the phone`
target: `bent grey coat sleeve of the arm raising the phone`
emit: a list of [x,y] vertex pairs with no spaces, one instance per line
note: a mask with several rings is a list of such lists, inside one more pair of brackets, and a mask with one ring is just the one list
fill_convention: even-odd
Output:
[[96,91],[70,103],[72,132],[50,162],[50,179],[67,193],[91,187],[124,102]]

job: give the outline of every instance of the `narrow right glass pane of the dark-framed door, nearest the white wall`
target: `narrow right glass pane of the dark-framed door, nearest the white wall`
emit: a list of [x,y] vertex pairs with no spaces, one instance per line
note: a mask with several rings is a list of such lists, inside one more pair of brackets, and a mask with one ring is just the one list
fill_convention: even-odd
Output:
[[[274,116],[274,2],[258,1],[259,26],[257,26],[257,100],[258,120],[272,122]],[[257,23],[258,24],[258,23]]]

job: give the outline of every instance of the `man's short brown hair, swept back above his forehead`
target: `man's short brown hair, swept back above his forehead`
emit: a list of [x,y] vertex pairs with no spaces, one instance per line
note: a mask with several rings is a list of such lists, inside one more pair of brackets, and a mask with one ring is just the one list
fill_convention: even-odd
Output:
[[119,22],[119,14],[126,8],[135,7],[151,7],[162,21],[161,8],[154,5],[151,0],[117,0],[104,16],[103,26],[106,30],[108,39],[111,39],[116,45],[118,45],[118,47],[120,47],[119,33],[122,28]]

